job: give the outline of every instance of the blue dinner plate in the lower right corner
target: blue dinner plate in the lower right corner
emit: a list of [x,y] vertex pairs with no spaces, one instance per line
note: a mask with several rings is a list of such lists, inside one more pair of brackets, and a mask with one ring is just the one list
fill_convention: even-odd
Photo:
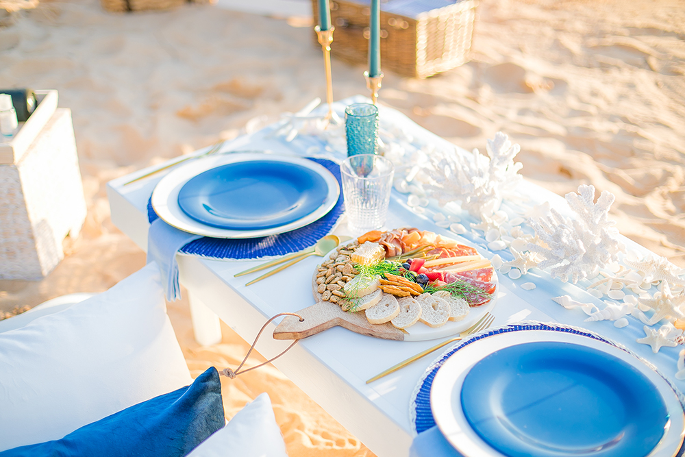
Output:
[[645,375],[573,343],[495,351],[466,374],[461,404],[471,428],[511,457],[644,457],[669,423]]

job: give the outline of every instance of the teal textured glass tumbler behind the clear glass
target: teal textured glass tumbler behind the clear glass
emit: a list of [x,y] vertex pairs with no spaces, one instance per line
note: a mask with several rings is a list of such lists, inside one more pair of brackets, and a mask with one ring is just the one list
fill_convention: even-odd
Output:
[[378,108],[354,103],[345,108],[347,156],[375,154],[378,149]]

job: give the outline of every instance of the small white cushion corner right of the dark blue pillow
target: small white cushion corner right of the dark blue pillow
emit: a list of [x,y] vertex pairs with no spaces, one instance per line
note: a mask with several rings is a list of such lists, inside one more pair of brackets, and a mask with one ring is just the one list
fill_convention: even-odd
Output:
[[203,441],[187,457],[287,457],[286,444],[271,408],[262,393],[221,430]]

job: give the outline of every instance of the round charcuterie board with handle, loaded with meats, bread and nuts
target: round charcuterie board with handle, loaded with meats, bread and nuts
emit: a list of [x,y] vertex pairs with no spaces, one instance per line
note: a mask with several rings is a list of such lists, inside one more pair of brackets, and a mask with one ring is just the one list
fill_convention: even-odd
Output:
[[497,274],[475,248],[434,232],[368,232],[334,249],[312,275],[316,304],[286,317],[276,339],[334,326],[421,341],[458,334],[495,306]]

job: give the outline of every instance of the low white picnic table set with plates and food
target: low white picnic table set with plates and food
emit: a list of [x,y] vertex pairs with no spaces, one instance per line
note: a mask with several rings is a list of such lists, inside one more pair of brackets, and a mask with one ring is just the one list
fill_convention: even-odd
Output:
[[[338,111],[343,112],[345,104],[351,100],[354,99],[337,103]],[[391,108],[383,107],[381,116],[382,123],[391,122],[398,129],[422,138],[423,142],[435,142],[443,147],[449,145]],[[319,138],[301,136],[290,142],[283,140],[270,135],[273,128],[266,127],[240,136],[223,145],[223,150],[268,150],[273,153],[312,156],[316,155],[316,145],[321,145]],[[202,152],[203,150],[197,151],[198,154]],[[330,151],[327,155],[331,157]],[[153,188],[164,173],[127,186],[124,183],[153,168],[136,171],[108,184],[112,221],[143,250],[147,250],[147,204]],[[534,197],[536,201],[550,201],[554,208],[566,206],[562,197],[534,184],[524,181],[520,188],[522,193]],[[416,214],[407,206],[406,200],[406,195],[393,191],[387,228],[413,226],[459,238],[449,230],[436,226],[429,216],[430,212]],[[347,231],[344,220],[336,227],[334,234],[358,235]],[[630,240],[623,238],[623,241],[632,249],[642,249]],[[474,245],[472,240],[466,240],[466,243]],[[486,257],[491,258],[495,254],[482,245],[477,247]],[[180,282],[188,291],[195,336],[202,345],[220,341],[219,319],[245,341],[251,342],[269,317],[279,312],[297,312],[313,305],[312,272],[322,261],[321,258],[312,256],[266,280],[245,286],[256,275],[236,278],[234,274],[264,260],[212,260],[187,255],[179,255],[177,259]],[[523,290],[521,284],[524,282],[534,282],[538,287],[532,291]],[[649,360],[664,375],[675,380],[677,352],[680,347],[664,347],[658,354],[652,354],[649,346],[635,343],[636,338],[644,336],[642,323],[637,319],[631,319],[629,327],[623,329],[615,328],[612,321],[586,323],[584,319],[587,316],[580,310],[566,310],[551,300],[551,297],[564,294],[588,301],[597,300],[584,292],[584,287],[552,280],[547,273],[539,270],[533,270],[519,280],[511,280],[500,274],[497,302],[492,311],[495,315],[493,327],[525,320],[587,328],[630,347],[635,354]],[[278,321],[269,325],[258,343],[258,351],[266,358],[279,354],[290,344],[290,341],[276,341],[271,338],[271,332]],[[284,356],[275,360],[273,365],[377,456],[408,456],[416,435],[409,413],[412,392],[425,369],[442,350],[371,384],[366,384],[366,380],[438,342],[439,340],[388,341],[336,327],[301,340]],[[219,367],[221,368],[223,367]]]

